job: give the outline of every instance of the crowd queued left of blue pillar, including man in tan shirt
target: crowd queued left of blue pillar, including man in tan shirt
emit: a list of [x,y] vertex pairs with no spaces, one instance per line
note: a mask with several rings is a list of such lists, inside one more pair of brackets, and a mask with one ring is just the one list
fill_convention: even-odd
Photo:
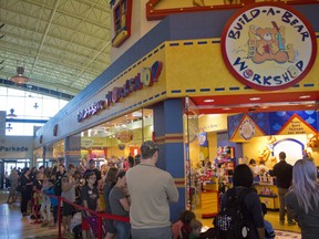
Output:
[[[79,216],[76,207],[68,201],[88,208],[81,210],[81,237],[84,239],[92,233],[96,237],[92,228],[94,214],[90,211],[130,217],[130,221],[105,219],[105,238],[141,238],[141,235],[145,235],[142,238],[147,238],[147,235],[167,238],[172,233],[168,205],[169,201],[178,200],[178,191],[171,174],[155,166],[158,152],[158,145],[148,141],[141,146],[141,156],[112,160],[103,168],[97,168],[94,159],[88,163],[82,159],[78,166],[69,164],[68,168],[62,162],[52,168],[41,166],[23,168],[21,172],[13,168],[17,187],[11,187],[14,194],[9,196],[8,202],[16,201],[13,197],[19,191],[23,217],[30,214],[33,217],[37,210],[34,206],[38,205],[37,212],[43,219],[42,226],[56,227],[56,196],[66,199],[62,204],[62,233],[65,238],[75,233],[76,218],[73,217]],[[156,187],[150,180],[145,180],[145,187],[141,187],[147,175]]]

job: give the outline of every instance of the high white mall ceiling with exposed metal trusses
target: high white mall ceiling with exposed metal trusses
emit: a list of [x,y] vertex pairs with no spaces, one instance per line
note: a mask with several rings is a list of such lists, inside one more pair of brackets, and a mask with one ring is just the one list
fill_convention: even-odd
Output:
[[29,85],[76,95],[111,63],[110,22],[109,0],[0,0],[0,79],[23,66]]

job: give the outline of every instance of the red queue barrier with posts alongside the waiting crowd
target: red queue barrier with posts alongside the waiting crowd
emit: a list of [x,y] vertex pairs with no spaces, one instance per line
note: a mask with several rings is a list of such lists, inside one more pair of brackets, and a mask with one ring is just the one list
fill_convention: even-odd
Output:
[[[43,195],[43,191],[38,190],[37,191],[40,195]],[[111,215],[111,214],[106,214],[106,212],[101,212],[101,211],[93,211],[90,210],[81,205],[74,204],[73,201],[70,201],[61,196],[55,196],[55,195],[48,195],[44,194],[48,197],[54,197],[58,198],[58,229],[59,229],[59,239],[62,239],[62,230],[61,230],[61,224],[62,224],[62,217],[61,217],[61,206],[62,206],[62,201],[65,201],[66,204],[72,205],[74,208],[80,209],[82,211],[86,211],[90,212],[91,215],[95,215],[97,217],[97,239],[102,239],[102,224],[103,224],[103,219],[111,219],[111,220],[117,220],[117,221],[125,221],[125,222],[130,222],[130,218],[128,217],[120,217],[116,215]],[[41,221],[39,220],[39,215],[38,215],[38,208],[39,208],[39,197],[38,200],[35,200],[35,205],[34,205],[34,222],[32,222],[33,225],[35,224],[41,224]]]

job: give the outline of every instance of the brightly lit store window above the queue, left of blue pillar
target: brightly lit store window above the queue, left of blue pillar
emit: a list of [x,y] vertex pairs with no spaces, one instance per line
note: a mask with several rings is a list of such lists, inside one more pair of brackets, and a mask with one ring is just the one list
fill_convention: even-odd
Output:
[[138,157],[153,135],[153,111],[141,108],[81,133],[81,158],[101,164]]

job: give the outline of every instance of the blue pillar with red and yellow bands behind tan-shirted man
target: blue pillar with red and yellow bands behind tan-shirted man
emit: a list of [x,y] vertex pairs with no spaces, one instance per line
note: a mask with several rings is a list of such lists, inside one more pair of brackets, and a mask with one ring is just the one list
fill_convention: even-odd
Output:
[[179,212],[186,209],[185,158],[183,141],[182,98],[172,98],[158,103],[154,110],[155,142],[160,146],[157,167],[168,172],[177,186],[179,199],[171,204],[171,221],[178,219]]

